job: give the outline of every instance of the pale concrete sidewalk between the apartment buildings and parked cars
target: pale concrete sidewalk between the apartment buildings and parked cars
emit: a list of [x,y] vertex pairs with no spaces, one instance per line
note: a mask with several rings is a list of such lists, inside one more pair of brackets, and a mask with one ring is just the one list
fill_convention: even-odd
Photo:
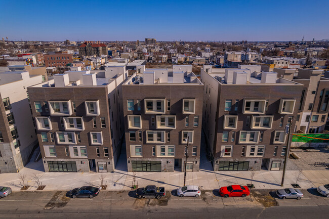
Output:
[[[290,160],[289,160],[290,162]],[[42,160],[36,163],[28,163],[21,170],[21,174],[27,174],[28,191],[36,190],[33,182],[33,174],[40,176],[40,182],[45,185],[44,190],[70,190],[84,185],[100,186],[100,176],[104,174],[107,185],[106,190],[131,190],[133,173],[127,172],[126,154],[122,153],[114,172],[44,172]],[[204,190],[219,189],[222,186],[232,184],[251,184],[251,171],[212,171],[212,165],[201,152],[200,171],[187,172],[186,184],[197,185]],[[292,187],[296,183],[298,170],[287,170],[284,187]],[[253,184],[256,189],[281,188],[282,171],[256,171]],[[173,190],[183,185],[184,172],[137,172],[136,184],[139,187],[146,185],[163,186],[167,190]],[[298,184],[302,189],[314,188],[329,183],[329,170],[303,170]],[[9,186],[14,191],[21,189],[19,173],[0,174],[0,186]]]

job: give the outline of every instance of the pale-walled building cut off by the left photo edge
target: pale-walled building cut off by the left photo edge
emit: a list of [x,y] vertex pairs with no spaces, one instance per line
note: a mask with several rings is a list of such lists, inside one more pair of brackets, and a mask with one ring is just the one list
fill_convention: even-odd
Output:
[[37,145],[26,87],[43,77],[10,71],[1,72],[0,79],[0,173],[19,172]]

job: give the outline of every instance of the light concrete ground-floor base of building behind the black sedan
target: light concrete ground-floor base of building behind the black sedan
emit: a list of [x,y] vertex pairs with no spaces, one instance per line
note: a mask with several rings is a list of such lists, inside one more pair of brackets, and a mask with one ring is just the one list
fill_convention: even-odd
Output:
[[43,158],[45,172],[113,172],[112,159],[54,159]]

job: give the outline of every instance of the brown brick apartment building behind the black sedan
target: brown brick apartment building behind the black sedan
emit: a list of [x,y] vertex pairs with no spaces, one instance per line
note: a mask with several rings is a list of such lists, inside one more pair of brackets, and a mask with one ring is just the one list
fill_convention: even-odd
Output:
[[124,134],[126,67],[65,74],[28,87],[45,171],[113,171]]

